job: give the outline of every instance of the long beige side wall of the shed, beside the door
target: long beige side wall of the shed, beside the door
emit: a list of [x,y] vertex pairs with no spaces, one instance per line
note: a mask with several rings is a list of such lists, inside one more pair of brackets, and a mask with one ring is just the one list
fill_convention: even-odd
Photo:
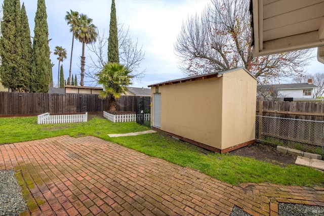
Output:
[[[159,86],[161,130],[221,148],[220,78]],[[155,93],[155,88],[152,88]]]

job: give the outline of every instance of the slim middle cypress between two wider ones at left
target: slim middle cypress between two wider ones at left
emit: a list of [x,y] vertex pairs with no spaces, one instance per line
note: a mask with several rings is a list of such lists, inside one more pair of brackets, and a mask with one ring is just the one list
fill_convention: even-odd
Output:
[[21,47],[22,47],[22,77],[21,81],[24,83],[25,87],[24,90],[30,90],[30,74],[31,74],[31,37],[30,37],[30,29],[28,24],[28,18],[26,14],[26,9],[24,3],[21,7]]

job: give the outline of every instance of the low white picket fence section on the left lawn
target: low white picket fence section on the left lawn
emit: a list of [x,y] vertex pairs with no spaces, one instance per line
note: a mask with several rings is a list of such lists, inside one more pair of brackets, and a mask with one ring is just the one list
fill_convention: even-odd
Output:
[[88,112],[85,114],[50,115],[49,112],[37,115],[37,124],[73,123],[88,121]]

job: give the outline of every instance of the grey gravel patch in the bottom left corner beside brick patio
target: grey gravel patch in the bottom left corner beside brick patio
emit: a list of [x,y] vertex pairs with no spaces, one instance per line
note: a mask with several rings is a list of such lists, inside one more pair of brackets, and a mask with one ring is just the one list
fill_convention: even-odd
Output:
[[27,209],[15,170],[0,170],[0,215],[18,215]]

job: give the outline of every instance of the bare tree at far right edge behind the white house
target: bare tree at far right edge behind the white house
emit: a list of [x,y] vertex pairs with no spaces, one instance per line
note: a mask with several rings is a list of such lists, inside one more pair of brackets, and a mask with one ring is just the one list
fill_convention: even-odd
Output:
[[293,81],[295,83],[305,83],[308,79],[312,79],[312,83],[318,87],[314,89],[314,98],[322,97],[324,94],[324,73],[317,72],[305,76],[297,76],[293,78]]

